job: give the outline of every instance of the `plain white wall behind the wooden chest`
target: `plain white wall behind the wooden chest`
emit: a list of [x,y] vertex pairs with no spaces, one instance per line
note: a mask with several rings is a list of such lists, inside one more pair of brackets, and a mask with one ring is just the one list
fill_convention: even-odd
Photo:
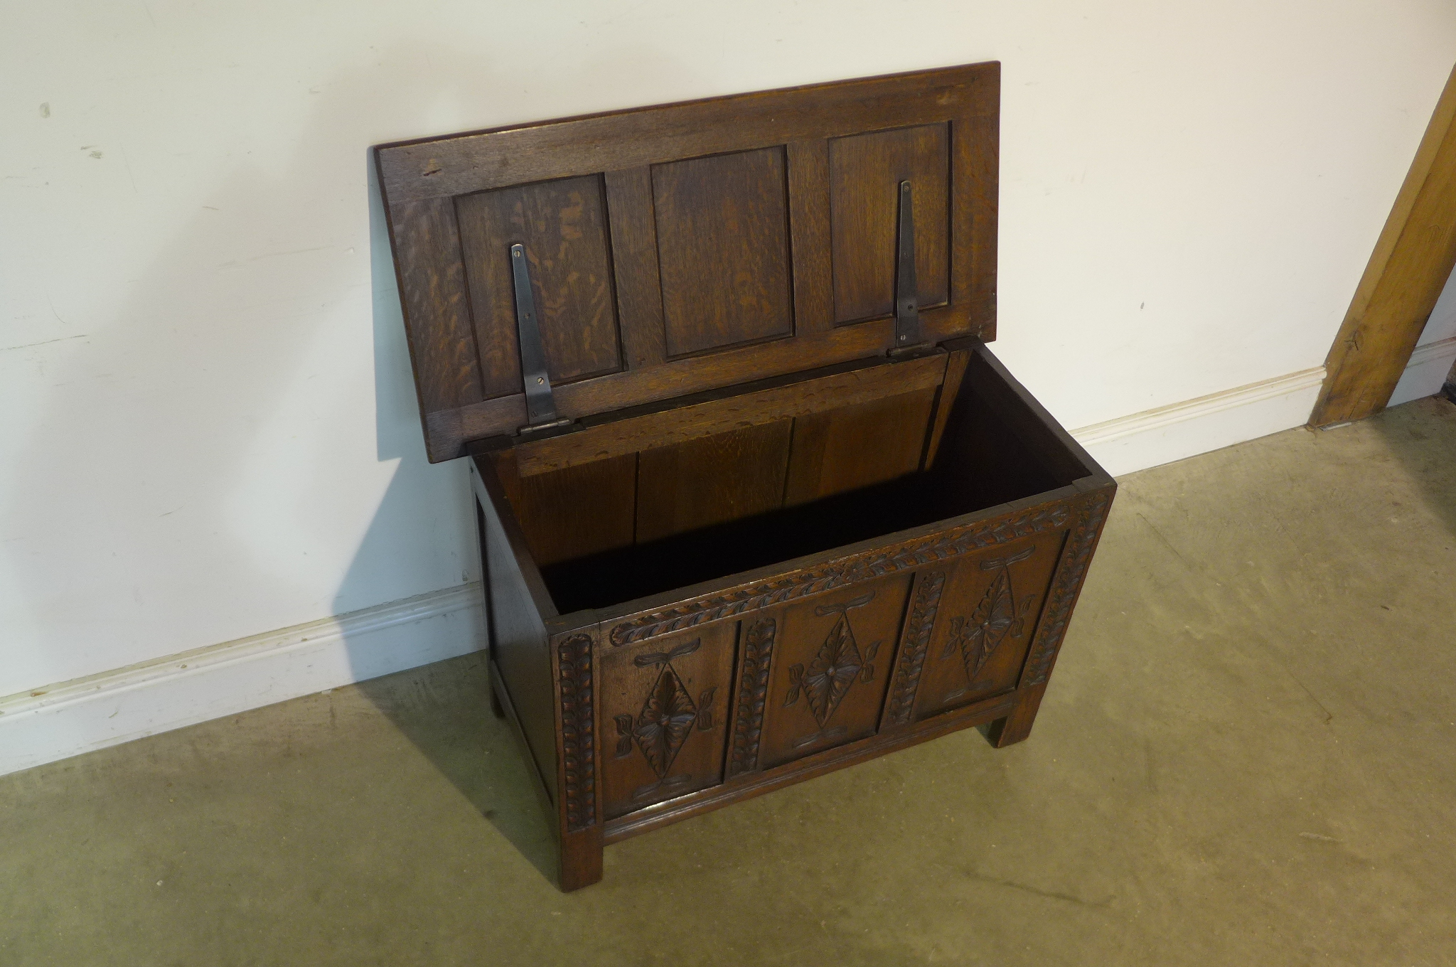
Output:
[[1449,0],[3,0],[0,695],[473,577],[370,144],[1000,60],[997,351],[1083,427],[1324,361],[1453,52]]

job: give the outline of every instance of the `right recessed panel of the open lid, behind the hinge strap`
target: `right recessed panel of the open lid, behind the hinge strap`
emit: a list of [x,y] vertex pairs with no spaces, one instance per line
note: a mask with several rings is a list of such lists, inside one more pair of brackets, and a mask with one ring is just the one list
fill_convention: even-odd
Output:
[[907,179],[919,304],[946,301],[951,181],[946,128],[926,124],[828,143],[836,322],[894,315],[900,182]]

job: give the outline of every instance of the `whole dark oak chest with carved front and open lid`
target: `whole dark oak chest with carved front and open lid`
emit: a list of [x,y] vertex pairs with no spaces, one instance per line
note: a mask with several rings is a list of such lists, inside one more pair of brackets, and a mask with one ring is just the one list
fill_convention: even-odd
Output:
[[377,149],[563,890],[664,823],[1031,731],[1115,485],[984,345],[999,79]]

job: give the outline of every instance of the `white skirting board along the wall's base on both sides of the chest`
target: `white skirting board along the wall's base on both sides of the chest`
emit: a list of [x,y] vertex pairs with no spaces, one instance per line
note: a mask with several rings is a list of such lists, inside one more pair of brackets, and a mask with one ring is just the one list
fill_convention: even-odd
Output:
[[[1424,374],[1439,358],[1450,366],[1456,339],[1423,350],[1411,366]],[[1302,425],[1324,374],[1290,373],[1073,435],[1111,473],[1131,473]],[[466,584],[0,699],[0,775],[467,654],[483,644],[479,597],[480,585]]]

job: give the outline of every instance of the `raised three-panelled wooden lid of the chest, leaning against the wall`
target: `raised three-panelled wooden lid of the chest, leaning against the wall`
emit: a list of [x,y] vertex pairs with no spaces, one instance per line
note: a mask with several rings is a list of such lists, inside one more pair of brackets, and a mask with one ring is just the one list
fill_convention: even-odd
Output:
[[987,63],[377,147],[430,460],[993,339],[999,103]]

